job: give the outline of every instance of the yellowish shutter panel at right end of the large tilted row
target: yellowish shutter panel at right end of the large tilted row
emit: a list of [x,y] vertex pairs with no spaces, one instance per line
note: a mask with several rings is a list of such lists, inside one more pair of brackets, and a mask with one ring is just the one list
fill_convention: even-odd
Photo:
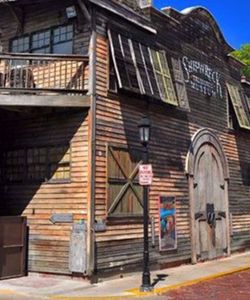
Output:
[[165,53],[151,49],[151,56],[162,100],[178,105]]

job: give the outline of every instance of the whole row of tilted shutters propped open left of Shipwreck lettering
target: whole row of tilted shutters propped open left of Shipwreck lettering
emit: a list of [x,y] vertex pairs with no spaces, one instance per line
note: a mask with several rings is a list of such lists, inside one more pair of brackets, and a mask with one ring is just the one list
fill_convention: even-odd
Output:
[[108,31],[118,86],[178,105],[166,55],[115,31]]

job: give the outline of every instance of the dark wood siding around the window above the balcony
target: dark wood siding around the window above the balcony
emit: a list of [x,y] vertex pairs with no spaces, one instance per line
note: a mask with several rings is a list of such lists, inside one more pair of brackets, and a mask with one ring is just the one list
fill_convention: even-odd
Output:
[[24,5],[15,9],[17,16],[23,20],[21,25],[8,6],[1,5],[0,33],[4,52],[10,50],[10,40],[35,31],[41,31],[54,26],[74,24],[73,53],[87,54],[90,30],[82,13],[77,10],[77,18],[68,20],[65,9],[73,5],[71,0],[50,1]]

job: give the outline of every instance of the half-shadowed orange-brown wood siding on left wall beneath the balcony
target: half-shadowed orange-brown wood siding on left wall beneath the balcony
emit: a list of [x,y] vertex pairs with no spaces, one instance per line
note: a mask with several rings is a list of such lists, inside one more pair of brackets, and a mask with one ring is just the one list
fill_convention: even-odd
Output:
[[[1,184],[4,215],[27,216],[29,271],[68,274],[72,223],[53,224],[52,214],[87,216],[88,117],[78,111],[1,120],[1,146],[22,149],[44,145],[71,145],[71,178],[65,183],[20,182]],[[1,147],[1,148],[2,148]]]

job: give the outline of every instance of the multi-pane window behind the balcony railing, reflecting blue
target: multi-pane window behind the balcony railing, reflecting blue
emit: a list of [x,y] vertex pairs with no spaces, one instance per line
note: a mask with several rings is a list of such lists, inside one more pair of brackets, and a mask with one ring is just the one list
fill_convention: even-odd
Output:
[[58,26],[12,40],[11,52],[73,53],[73,25]]

